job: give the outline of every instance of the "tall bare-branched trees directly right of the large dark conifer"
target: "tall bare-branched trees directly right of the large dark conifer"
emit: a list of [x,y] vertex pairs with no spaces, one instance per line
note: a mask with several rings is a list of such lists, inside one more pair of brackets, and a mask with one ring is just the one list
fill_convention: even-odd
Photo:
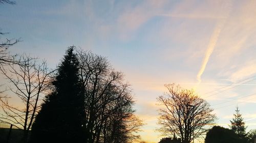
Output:
[[115,71],[100,55],[77,49],[79,76],[85,97],[87,141],[131,142],[142,126],[132,109],[130,85],[123,83],[123,74]]

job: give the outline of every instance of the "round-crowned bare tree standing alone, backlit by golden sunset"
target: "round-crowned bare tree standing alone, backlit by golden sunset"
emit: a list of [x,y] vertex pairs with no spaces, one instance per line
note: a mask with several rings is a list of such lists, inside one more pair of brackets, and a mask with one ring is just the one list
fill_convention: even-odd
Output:
[[213,109],[193,90],[182,89],[179,85],[166,84],[168,93],[157,98],[160,117],[158,130],[163,135],[177,135],[182,143],[189,143],[205,133],[206,126],[215,122]]

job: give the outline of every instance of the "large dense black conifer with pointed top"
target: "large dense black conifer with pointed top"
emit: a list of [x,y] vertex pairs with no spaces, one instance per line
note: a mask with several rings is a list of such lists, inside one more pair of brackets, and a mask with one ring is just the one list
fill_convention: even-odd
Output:
[[32,126],[31,142],[84,142],[84,96],[78,60],[69,47],[54,77],[49,94]]

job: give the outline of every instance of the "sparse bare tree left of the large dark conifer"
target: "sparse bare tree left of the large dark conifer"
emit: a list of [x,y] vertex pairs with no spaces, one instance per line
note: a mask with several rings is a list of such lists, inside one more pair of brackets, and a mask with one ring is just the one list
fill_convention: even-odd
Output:
[[[45,61],[38,63],[37,59],[26,54],[17,61],[19,64],[9,63],[0,67],[0,71],[9,81],[5,92],[7,95],[0,98],[3,109],[0,121],[23,129],[24,142],[27,142],[28,131],[40,108],[40,100],[49,90],[49,75],[53,71],[48,69]],[[13,106],[10,99],[22,104]]]

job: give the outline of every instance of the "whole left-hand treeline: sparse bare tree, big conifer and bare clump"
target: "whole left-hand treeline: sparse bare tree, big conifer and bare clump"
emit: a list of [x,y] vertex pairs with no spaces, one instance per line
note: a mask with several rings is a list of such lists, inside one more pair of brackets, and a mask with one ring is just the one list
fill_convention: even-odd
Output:
[[1,71],[25,104],[14,107],[8,96],[2,97],[1,121],[23,129],[23,142],[132,142],[139,138],[136,132],[142,121],[134,114],[130,85],[106,58],[72,46],[57,69],[49,70],[46,62],[22,57],[6,62]]

